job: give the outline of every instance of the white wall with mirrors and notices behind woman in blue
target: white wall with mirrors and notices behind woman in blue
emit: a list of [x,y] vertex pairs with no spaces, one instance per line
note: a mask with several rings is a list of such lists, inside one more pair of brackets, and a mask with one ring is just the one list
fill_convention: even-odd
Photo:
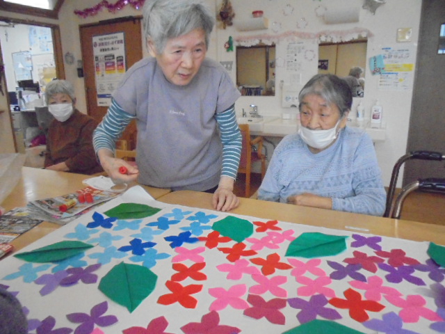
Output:
[[[220,1],[218,1],[220,2]],[[229,36],[236,40],[240,36],[262,36],[269,35],[277,38],[277,35],[285,35],[291,31],[297,32],[302,38],[282,38],[277,43],[277,58],[286,57],[286,45],[289,42],[302,41],[307,49],[316,52],[317,56],[313,61],[302,61],[301,77],[302,84],[305,84],[314,74],[317,73],[318,59],[318,39],[309,38],[311,34],[325,32],[327,35],[342,35],[345,31],[358,28],[359,30],[369,30],[372,36],[368,39],[367,58],[381,54],[382,47],[411,47],[412,63],[416,63],[416,46],[419,38],[419,24],[421,13],[421,1],[419,0],[391,0],[383,4],[375,11],[375,15],[369,10],[362,8],[364,1],[357,0],[330,0],[330,1],[270,1],[270,0],[232,0],[232,7],[236,13],[234,22],[238,19],[251,17],[253,10],[263,10],[264,16],[269,19],[269,29],[261,31],[236,31],[234,26],[227,27],[226,30],[218,30],[218,61],[234,61],[235,52],[226,52],[223,48],[224,42]],[[293,11],[290,15],[285,15],[286,5],[291,5]],[[317,17],[316,8],[326,6],[335,8],[335,6],[359,6],[359,22],[348,24],[324,24],[322,17]],[[219,6],[217,7],[219,8]],[[289,13],[289,12],[286,12]],[[307,22],[304,29],[298,29],[297,23]],[[273,22],[280,23],[281,31],[273,31]],[[399,28],[412,28],[411,42],[396,42],[396,31]],[[291,35],[289,33],[289,35]],[[277,67],[275,69],[276,82],[289,80],[289,72],[286,67]],[[232,79],[236,80],[235,72],[232,72]],[[382,168],[385,185],[389,184],[391,170],[396,160],[406,152],[408,126],[411,112],[412,100],[412,81],[407,90],[379,90],[378,76],[372,75],[369,69],[366,70],[366,90],[363,98],[366,108],[366,117],[370,117],[371,106],[375,99],[378,99],[383,107],[383,119],[386,126],[386,140],[375,144],[380,168]],[[414,71],[412,72],[414,79]],[[236,102],[237,112],[242,108],[248,108],[250,104],[256,104],[259,113],[262,115],[280,115],[289,109],[281,107],[281,89],[277,84],[275,97],[241,97]],[[246,109],[248,110],[248,109]],[[399,177],[398,186],[401,186],[401,177]]]

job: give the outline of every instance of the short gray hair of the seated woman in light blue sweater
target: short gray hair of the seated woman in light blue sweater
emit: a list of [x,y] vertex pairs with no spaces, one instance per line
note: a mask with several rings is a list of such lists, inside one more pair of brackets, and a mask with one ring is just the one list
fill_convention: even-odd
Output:
[[348,84],[334,74],[316,74],[307,81],[298,95],[300,111],[302,100],[306,95],[311,94],[320,96],[327,104],[335,104],[340,111],[340,117],[350,111],[353,105],[353,94]]

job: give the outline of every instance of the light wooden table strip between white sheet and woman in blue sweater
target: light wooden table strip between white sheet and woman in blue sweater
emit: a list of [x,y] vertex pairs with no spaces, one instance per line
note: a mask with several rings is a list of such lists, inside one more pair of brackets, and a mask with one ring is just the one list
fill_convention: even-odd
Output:
[[[211,207],[210,193],[174,191],[161,196],[158,200],[169,204],[213,209]],[[240,200],[239,207],[232,210],[232,213],[270,220],[276,219],[289,223],[334,228],[336,230],[377,234],[385,237],[414,241],[432,241],[436,244],[445,245],[445,226],[443,225],[367,216],[364,214],[350,214],[348,212],[337,212],[250,198],[240,198]]]

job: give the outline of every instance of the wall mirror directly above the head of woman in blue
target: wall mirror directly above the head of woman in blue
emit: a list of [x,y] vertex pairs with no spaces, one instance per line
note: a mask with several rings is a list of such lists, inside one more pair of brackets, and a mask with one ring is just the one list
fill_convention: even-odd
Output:
[[[352,85],[357,85],[357,81],[348,80],[348,83],[350,82],[351,89],[354,90],[353,96],[360,97],[362,93],[364,93],[367,45],[368,40],[366,38],[341,43],[320,43],[318,47],[318,73],[330,73],[336,74],[339,77],[348,77],[349,71],[352,67],[362,67],[363,73],[360,77],[363,79],[358,81],[360,87],[353,88]],[[362,93],[358,93],[356,95],[356,91]]]

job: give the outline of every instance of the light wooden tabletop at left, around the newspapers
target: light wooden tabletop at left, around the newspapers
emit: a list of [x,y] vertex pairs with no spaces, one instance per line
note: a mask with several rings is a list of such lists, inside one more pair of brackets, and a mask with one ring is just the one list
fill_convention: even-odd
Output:
[[[15,207],[25,207],[26,203],[31,200],[51,198],[65,195],[66,193],[72,193],[78,189],[85,188],[86,184],[83,184],[82,181],[90,177],[92,176],[23,167],[22,178],[10,195],[3,200],[1,206],[8,211]],[[130,186],[132,185],[136,185],[136,182],[130,184]],[[152,186],[143,186],[143,188],[153,198],[159,198],[170,192],[170,189],[154,188]],[[14,239],[11,244],[14,245],[15,250],[19,250],[57,228],[60,228],[60,225],[45,221]]]

